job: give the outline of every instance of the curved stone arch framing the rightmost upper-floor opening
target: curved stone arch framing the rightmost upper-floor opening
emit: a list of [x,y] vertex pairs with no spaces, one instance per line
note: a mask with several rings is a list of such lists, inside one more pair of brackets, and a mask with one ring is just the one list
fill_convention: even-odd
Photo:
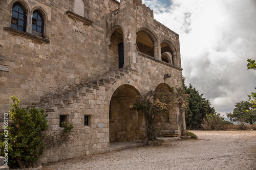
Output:
[[163,53],[169,52],[172,55],[173,65],[178,66],[178,56],[177,56],[177,50],[172,42],[168,40],[163,40],[161,42],[161,55]]

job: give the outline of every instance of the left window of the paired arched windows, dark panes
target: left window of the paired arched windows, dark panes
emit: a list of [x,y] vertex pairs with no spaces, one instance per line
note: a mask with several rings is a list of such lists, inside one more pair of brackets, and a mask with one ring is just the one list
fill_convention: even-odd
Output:
[[11,28],[19,31],[26,31],[26,11],[25,8],[19,3],[13,4],[12,7]]

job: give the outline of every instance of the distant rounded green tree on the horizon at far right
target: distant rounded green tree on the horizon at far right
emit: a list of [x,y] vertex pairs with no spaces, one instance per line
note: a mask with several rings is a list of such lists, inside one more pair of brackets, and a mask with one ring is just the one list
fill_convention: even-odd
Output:
[[253,124],[256,122],[256,111],[253,110],[253,104],[248,101],[242,101],[234,105],[233,113],[227,113],[227,117],[232,122],[245,122]]

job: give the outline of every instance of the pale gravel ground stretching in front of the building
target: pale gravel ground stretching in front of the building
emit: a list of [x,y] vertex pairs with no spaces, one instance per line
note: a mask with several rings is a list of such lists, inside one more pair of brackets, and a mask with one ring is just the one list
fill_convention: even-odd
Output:
[[190,131],[166,142],[42,165],[50,169],[256,169],[256,131]]

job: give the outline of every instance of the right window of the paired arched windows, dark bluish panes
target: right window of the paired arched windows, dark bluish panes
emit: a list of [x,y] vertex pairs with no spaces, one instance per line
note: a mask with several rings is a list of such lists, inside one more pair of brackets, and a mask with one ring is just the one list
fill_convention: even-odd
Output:
[[34,11],[32,18],[32,34],[42,37],[44,33],[44,19],[39,11]]

